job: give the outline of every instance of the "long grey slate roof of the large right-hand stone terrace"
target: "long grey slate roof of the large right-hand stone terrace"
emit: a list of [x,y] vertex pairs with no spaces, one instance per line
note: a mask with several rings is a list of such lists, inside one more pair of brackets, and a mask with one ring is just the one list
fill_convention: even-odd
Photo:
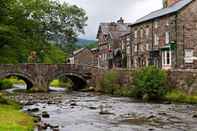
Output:
[[172,6],[170,6],[168,8],[163,8],[163,9],[154,11],[154,12],[138,19],[135,23],[131,24],[131,26],[142,23],[142,22],[146,22],[146,21],[149,21],[149,20],[161,17],[161,16],[175,13],[175,12],[183,9],[185,6],[190,4],[192,1],[193,0],[180,0],[179,2],[173,4]]

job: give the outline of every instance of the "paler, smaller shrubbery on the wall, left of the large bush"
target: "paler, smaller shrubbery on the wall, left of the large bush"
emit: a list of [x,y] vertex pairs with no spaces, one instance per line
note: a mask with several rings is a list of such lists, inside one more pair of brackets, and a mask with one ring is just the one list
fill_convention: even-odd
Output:
[[101,91],[115,96],[129,96],[130,88],[120,83],[120,77],[116,70],[106,72],[100,81]]

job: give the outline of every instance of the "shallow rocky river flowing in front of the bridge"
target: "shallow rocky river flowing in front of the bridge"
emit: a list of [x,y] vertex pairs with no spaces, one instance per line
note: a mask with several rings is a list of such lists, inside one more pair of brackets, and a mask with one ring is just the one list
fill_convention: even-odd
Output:
[[[60,131],[197,131],[197,105],[142,103],[90,92],[17,93],[10,98],[24,104],[23,111],[38,108],[33,114]],[[50,117],[42,118],[43,111]]]

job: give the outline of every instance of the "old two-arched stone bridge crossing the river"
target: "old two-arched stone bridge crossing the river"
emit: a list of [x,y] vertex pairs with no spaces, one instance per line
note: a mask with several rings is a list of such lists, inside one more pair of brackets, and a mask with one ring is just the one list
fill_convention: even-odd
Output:
[[27,89],[35,92],[47,92],[50,82],[66,76],[74,83],[75,88],[96,86],[96,79],[102,72],[92,66],[71,64],[0,64],[0,79],[17,76],[24,80]]

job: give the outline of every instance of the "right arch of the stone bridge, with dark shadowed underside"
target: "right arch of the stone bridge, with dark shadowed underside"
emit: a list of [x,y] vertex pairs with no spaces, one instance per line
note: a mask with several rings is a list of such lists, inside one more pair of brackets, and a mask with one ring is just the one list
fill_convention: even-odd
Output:
[[57,79],[57,78],[61,78],[61,77],[67,77],[68,79],[70,79],[73,82],[73,89],[74,90],[80,90],[85,88],[88,85],[87,80],[84,78],[83,75],[78,74],[78,73],[73,73],[73,72],[61,72],[61,73],[57,73],[56,75],[54,75],[48,83],[50,83],[52,80]]

